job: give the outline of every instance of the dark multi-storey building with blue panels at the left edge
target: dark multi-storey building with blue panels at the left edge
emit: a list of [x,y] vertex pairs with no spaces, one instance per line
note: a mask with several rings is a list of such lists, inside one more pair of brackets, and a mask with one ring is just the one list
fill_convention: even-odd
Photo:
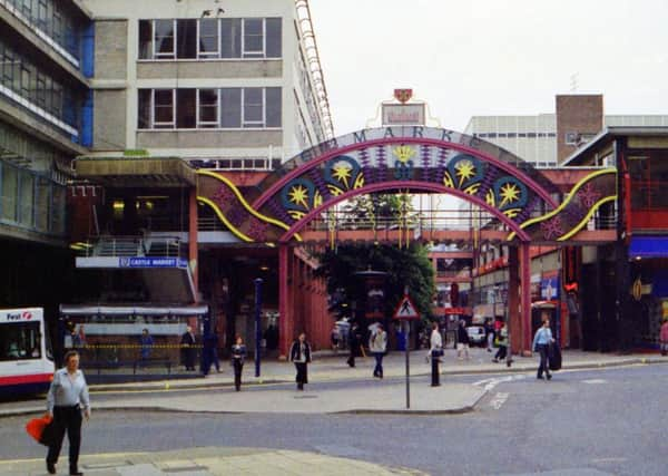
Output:
[[92,14],[78,0],[0,0],[0,307],[76,293],[72,159],[92,140]]

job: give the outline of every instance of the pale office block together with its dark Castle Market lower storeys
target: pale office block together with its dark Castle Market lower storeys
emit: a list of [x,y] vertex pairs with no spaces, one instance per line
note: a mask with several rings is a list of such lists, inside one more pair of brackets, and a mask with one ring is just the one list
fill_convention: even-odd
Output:
[[[101,285],[62,314],[86,329],[97,329],[92,318],[122,314],[170,332],[169,343],[177,328],[156,327],[160,319],[179,315],[183,331],[184,319],[206,314],[220,347],[235,334],[252,347],[256,278],[264,280],[263,331],[276,322],[277,252],[240,246],[199,195],[220,179],[253,188],[333,136],[308,2],[82,4],[95,21],[95,107],[90,149],[73,167],[71,240],[79,275]],[[95,193],[76,193],[87,187]],[[307,256],[299,266],[304,275],[313,268]],[[324,286],[315,286],[326,313]],[[91,302],[94,311],[84,305]]]

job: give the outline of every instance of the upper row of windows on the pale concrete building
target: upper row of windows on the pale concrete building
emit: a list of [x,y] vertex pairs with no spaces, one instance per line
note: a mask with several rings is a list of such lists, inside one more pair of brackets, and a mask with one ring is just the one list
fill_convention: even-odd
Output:
[[139,20],[139,59],[281,58],[281,18]]

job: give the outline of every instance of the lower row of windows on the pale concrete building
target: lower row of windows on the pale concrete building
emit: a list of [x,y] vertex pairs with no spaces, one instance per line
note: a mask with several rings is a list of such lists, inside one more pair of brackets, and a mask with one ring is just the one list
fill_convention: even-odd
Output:
[[281,127],[281,88],[139,89],[140,129]]

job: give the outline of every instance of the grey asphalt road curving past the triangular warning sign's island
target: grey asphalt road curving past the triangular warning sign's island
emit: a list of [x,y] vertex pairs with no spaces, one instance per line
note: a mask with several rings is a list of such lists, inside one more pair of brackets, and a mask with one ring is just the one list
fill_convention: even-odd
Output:
[[[82,451],[271,447],[433,475],[666,475],[667,370],[638,366],[559,372],[550,382],[528,373],[449,377],[489,389],[475,411],[454,416],[98,411],[84,429]],[[320,388],[363,385],[331,382]],[[206,391],[215,398],[215,391],[227,390]],[[0,420],[0,458],[43,457],[42,447],[22,429],[26,420]]]

